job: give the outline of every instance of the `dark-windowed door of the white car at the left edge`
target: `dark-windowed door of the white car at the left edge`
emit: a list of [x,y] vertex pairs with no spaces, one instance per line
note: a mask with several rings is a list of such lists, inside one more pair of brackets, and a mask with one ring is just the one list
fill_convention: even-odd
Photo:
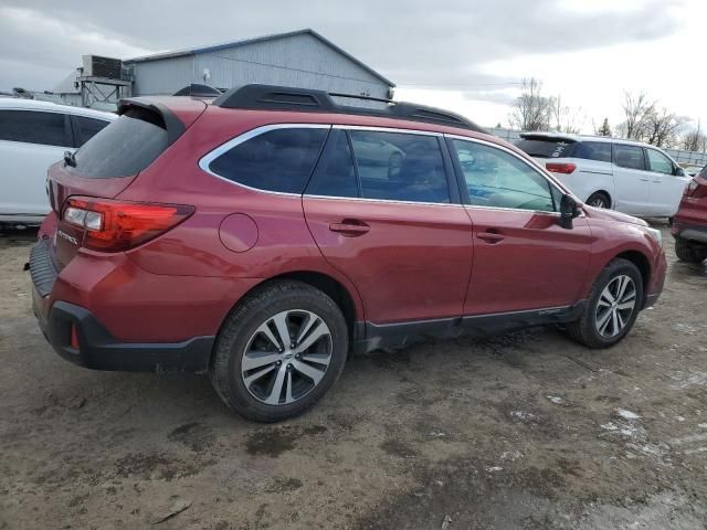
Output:
[[0,109],[0,214],[49,213],[46,170],[72,146],[67,115]]

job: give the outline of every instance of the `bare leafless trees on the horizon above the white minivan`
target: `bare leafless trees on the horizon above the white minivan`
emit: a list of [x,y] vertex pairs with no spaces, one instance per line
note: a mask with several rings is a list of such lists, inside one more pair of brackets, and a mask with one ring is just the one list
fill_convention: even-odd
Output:
[[[615,135],[662,148],[707,152],[707,135],[699,121],[696,128],[690,127],[688,117],[661,107],[645,93],[625,92],[622,109],[622,123],[612,130],[609,118],[604,118],[600,126],[594,125],[594,134]],[[523,80],[520,96],[514,102],[509,116],[510,126],[520,130],[566,134],[579,134],[583,119],[581,107],[563,105],[560,96],[544,95],[542,82],[535,77]]]

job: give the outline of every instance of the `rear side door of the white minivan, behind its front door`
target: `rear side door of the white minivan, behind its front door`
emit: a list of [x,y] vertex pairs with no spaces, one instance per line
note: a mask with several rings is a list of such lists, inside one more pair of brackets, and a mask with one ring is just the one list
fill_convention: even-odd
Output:
[[643,147],[613,145],[613,173],[616,197],[614,209],[631,215],[651,215],[650,173]]

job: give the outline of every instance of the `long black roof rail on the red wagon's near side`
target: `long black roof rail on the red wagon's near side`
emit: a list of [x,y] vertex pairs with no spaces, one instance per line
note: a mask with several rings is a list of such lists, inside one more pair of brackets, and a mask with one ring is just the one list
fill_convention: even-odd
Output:
[[[349,98],[386,104],[383,108],[367,108],[339,105],[333,98]],[[262,110],[295,110],[302,113],[336,113],[363,116],[379,116],[394,119],[409,119],[426,124],[447,125],[463,129],[488,134],[475,123],[447,110],[426,107],[414,103],[393,102],[371,96],[328,93],[310,88],[295,88],[275,85],[244,85],[232,88],[213,100],[217,107],[245,108]]]

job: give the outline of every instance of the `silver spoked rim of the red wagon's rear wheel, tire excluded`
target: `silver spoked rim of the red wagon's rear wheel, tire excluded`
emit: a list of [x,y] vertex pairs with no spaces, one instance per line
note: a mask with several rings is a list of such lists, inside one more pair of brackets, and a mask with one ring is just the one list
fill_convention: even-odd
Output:
[[331,332],[318,315],[305,309],[281,311],[249,340],[241,358],[243,384],[262,403],[294,403],[319,384],[331,348]]

